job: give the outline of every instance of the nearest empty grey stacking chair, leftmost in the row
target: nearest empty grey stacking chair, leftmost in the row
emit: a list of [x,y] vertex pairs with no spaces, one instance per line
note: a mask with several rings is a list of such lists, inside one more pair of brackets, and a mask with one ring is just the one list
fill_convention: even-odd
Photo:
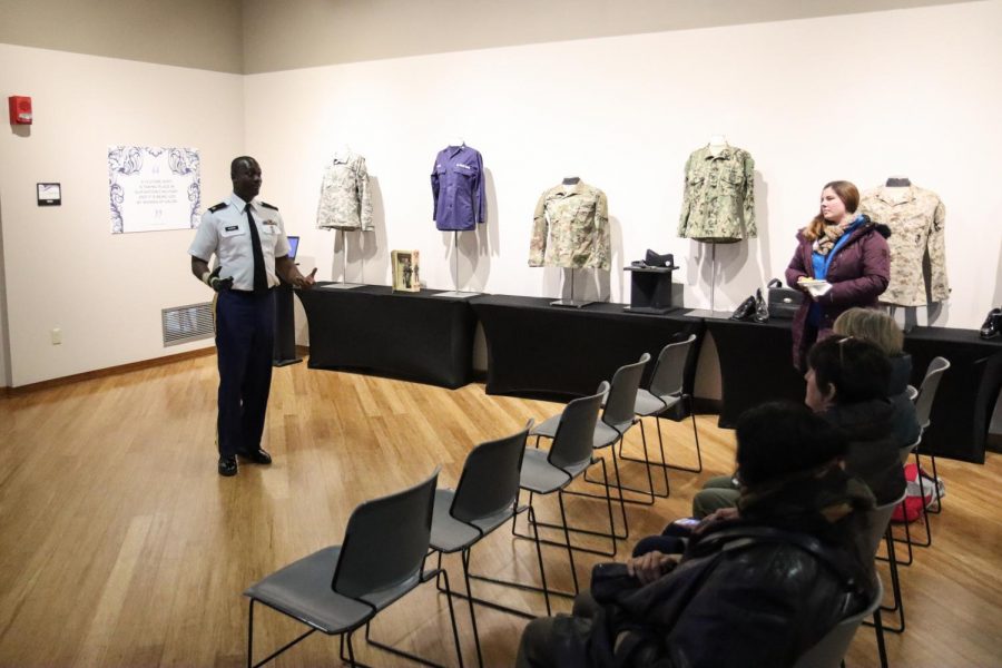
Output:
[[[352,635],[363,626],[371,645],[414,661],[434,665],[376,642],[370,638],[370,622],[381,610],[440,573],[446,592],[450,591],[448,573],[440,569],[424,570],[438,479],[439,470],[435,469],[424,482],[362,503],[348,518],[341,546],[314,552],[244,591],[244,596],[250,599],[247,666],[267,664],[314,631],[341,636],[341,659],[356,666]],[[446,600],[456,659],[462,667],[452,597]],[[253,661],[255,602],[310,627],[308,631],[257,664]]]

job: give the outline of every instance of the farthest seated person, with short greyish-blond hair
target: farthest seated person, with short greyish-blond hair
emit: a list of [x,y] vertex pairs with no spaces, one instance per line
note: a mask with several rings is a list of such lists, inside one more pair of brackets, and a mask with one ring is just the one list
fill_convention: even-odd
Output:
[[912,356],[904,352],[904,333],[894,318],[874,308],[849,308],[835,320],[833,331],[843,336],[862,338],[874,344],[891,361],[891,381],[887,399],[894,404],[894,433],[902,445],[918,440],[922,430],[915,403],[908,399],[908,381],[912,377]]

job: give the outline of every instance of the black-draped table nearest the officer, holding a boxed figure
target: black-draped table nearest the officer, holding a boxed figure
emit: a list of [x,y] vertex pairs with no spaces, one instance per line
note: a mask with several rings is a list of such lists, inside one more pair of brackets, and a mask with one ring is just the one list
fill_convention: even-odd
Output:
[[469,299],[387,286],[297,289],[310,323],[311,369],[358,371],[445,387],[470,382],[477,321]]

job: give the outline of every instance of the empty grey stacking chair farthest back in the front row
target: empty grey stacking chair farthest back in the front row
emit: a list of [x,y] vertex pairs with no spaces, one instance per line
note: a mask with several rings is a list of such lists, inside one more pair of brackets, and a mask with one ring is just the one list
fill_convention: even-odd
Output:
[[[650,375],[650,383],[647,387],[640,387],[637,391],[637,402],[633,412],[640,418],[640,432],[644,434],[644,418],[654,418],[658,428],[658,448],[661,451],[661,462],[646,462],[648,466],[658,466],[665,475],[665,494],[658,497],[667,498],[668,488],[668,469],[678,471],[689,471],[690,473],[703,472],[703,453],[699,450],[699,432],[696,430],[696,412],[692,410],[692,397],[682,392],[682,383],[685,381],[686,363],[692,351],[692,343],[696,335],[690,334],[685,341],[678,343],[669,343],[658,355],[654,373]],[[696,468],[677,466],[669,464],[665,459],[665,441],[661,436],[661,419],[668,415],[682,401],[688,402],[689,416],[692,419],[692,438],[696,442]],[[644,443],[647,443],[647,436],[642,435]],[[622,453],[622,441],[619,442],[619,455],[623,460],[641,461],[635,458],[626,456]]]

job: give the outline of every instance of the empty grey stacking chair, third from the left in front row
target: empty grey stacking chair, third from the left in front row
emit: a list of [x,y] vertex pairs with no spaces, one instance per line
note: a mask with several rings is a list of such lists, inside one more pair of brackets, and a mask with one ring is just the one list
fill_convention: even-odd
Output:
[[[519,533],[517,529],[517,517],[512,518],[512,533],[518,538],[536,540],[543,544],[557,546],[567,550],[568,561],[570,563],[571,577],[574,582],[574,591],[564,592],[550,589],[548,595],[574,596],[578,593],[578,574],[574,568],[574,550],[612,557],[616,554],[616,536],[612,522],[612,497],[609,493],[609,485],[605,485],[606,490],[606,508],[609,512],[609,533],[600,533],[580,528],[573,531],[599,534],[609,538],[611,547],[609,551],[600,551],[586,547],[571,544],[570,531],[572,530],[567,523],[567,511],[563,505],[563,494],[567,487],[574,479],[584,474],[592,464],[601,464],[602,479],[608,481],[606,460],[595,456],[592,448],[592,439],[596,433],[596,424],[598,422],[599,407],[602,397],[609,391],[609,383],[602,382],[596,394],[591,396],[582,396],[568,403],[563,407],[563,412],[557,422],[557,429],[553,433],[553,442],[550,444],[549,451],[538,448],[527,448],[525,455],[522,460],[522,473],[519,480],[519,487],[529,492],[529,505],[537,494],[546,495],[557,492],[557,500],[560,504],[560,524],[544,523],[537,521],[536,525],[552,527],[561,529],[563,532],[563,542],[543,540],[539,536],[528,536]],[[534,527],[533,527],[534,528]],[[493,580],[497,581],[497,580]],[[504,582],[510,583],[510,582]],[[513,584],[513,583],[510,583]],[[529,586],[519,586],[522,589],[531,589],[539,591],[539,588]]]

